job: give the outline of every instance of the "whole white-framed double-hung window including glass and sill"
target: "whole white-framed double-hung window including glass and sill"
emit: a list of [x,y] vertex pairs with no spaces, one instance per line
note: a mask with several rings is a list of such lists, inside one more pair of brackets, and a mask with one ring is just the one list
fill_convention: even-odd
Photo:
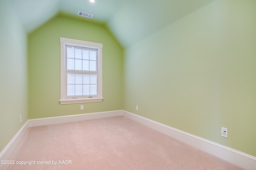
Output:
[[102,102],[102,47],[60,37],[60,104]]

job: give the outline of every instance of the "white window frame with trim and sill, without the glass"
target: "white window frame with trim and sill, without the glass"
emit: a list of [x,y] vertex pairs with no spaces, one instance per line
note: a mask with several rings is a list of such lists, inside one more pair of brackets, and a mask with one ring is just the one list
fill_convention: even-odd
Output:
[[[66,57],[66,45],[74,45],[79,47],[86,47],[97,49],[97,96],[82,96],[82,97],[67,97],[67,57]],[[101,43],[94,43],[89,41],[82,41],[77,39],[69,39],[60,37],[60,104],[75,104],[75,103],[87,103],[87,102],[102,102],[102,48]]]

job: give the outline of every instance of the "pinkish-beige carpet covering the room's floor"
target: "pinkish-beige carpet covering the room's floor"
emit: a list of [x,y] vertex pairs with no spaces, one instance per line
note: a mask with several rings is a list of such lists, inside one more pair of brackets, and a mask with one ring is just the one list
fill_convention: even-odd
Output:
[[30,127],[9,160],[3,170],[242,169],[123,116]]

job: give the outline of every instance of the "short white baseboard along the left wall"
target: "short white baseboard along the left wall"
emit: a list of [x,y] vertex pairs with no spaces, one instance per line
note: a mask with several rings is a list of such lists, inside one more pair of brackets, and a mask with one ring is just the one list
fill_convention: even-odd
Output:
[[[12,140],[4,147],[4,149],[0,152],[0,160],[8,160],[15,147],[21,141],[22,137],[28,130],[28,121],[24,123],[24,125],[20,128],[20,130],[16,133],[16,135],[12,138]],[[2,168],[2,164],[0,164],[0,169]]]

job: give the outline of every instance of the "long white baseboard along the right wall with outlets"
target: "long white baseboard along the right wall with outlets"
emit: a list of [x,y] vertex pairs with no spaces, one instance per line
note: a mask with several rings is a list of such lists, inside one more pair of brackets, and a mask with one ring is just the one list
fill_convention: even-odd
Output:
[[240,166],[246,170],[255,170],[256,169],[256,157],[246,154],[244,152],[240,152],[238,150],[220,145],[218,143],[214,143],[212,141],[208,141],[201,137],[197,137],[190,133],[186,133],[184,131],[180,131],[173,127],[169,127],[162,123],[158,123],[156,121],[152,121],[145,117],[130,113],[128,111],[123,111],[123,115],[141,123],[142,125],[146,125],[156,131],[164,133],[170,137],[178,139],[183,143],[196,147],[204,152],[208,152],[214,156],[217,156],[223,160],[226,160],[232,164]]

